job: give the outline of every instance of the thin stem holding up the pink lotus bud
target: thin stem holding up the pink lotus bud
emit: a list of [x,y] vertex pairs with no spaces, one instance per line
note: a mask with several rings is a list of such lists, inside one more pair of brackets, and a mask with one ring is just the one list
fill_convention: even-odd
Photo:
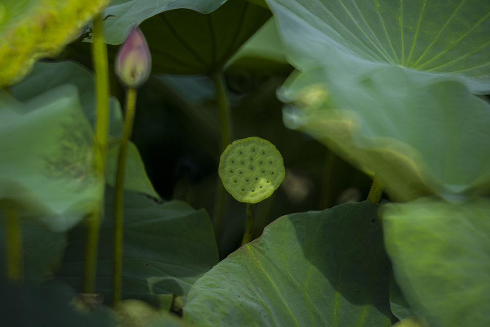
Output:
[[113,303],[121,301],[123,294],[123,197],[124,176],[126,171],[126,156],[129,138],[133,129],[134,114],[136,108],[136,89],[126,91],[125,119],[123,138],[119,150],[118,171],[116,174],[116,189],[114,194],[114,279],[113,279]]

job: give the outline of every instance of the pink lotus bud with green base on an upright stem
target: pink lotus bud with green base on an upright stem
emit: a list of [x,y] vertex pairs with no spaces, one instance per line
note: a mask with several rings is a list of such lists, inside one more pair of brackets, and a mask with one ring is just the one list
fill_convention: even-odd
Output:
[[125,86],[138,88],[148,80],[151,54],[139,27],[134,28],[116,55],[116,75]]

